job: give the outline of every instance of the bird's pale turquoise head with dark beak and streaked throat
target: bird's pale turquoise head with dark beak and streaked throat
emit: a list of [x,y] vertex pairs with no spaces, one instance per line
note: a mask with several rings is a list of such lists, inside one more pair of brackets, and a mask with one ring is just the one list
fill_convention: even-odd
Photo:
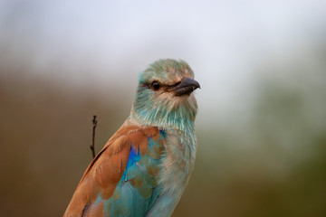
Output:
[[132,118],[141,124],[162,128],[193,127],[197,101],[193,91],[200,88],[186,61],[158,60],[139,73],[139,87]]

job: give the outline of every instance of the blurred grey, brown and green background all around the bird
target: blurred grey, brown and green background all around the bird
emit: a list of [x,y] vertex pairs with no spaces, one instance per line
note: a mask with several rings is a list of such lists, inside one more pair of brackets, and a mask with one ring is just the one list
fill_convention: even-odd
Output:
[[190,64],[197,163],[177,216],[326,216],[325,1],[1,1],[0,210],[61,216],[138,72]]

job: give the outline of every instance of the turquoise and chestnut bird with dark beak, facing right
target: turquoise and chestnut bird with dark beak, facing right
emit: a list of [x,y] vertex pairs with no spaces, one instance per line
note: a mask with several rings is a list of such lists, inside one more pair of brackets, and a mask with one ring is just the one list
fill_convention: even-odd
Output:
[[140,71],[129,117],[93,158],[63,216],[170,216],[195,164],[198,88],[183,60]]

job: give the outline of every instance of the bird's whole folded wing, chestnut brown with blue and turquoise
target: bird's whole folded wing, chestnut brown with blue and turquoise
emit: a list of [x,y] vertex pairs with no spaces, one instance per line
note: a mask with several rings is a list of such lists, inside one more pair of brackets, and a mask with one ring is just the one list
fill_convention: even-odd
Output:
[[[158,127],[120,127],[91,161],[64,216],[102,216],[103,212],[119,216],[134,212],[134,205],[146,210],[158,184],[164,145],[165,135]],[[122,205],[122,196],[124,201],[130,197],[129,204]],[[134,203],[135,197],[144,203]]]

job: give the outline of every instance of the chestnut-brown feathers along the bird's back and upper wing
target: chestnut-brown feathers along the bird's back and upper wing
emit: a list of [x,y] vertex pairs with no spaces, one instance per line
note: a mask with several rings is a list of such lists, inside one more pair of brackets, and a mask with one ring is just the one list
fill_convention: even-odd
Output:
[[[110,198],[126,169],[130,146],[139,150],[141,155],[148,149],[148,137],[158,139],[158,128],[120,127],[91,161],[63,216],[81,217],[87,210],[88,204],[94,203],[99,193],[103,199]],[[96,206],[91,206],[91,210],[87,210],[85,216],[102,216],[102,210],[103,203],[98,203]]]

